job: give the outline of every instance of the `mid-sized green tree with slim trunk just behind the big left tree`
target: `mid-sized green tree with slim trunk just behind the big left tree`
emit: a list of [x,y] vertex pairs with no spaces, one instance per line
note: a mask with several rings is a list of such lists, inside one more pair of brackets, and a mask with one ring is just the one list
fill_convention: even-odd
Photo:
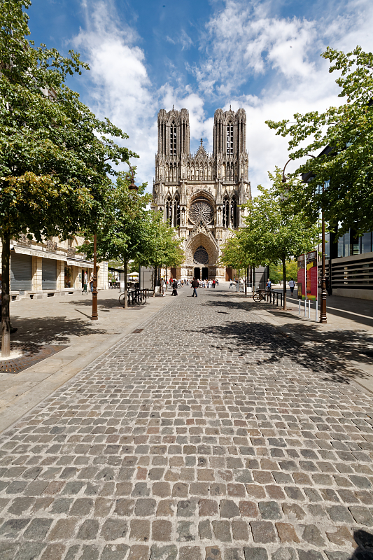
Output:
[[106,188],[106,199],[95,228],[86,232],[88,243],[80,247],[92,258],[93,236],[97,235],[97,258],[122,262],[125,271],[125,307],[127,307],[127,266],[130,260],[141,260],[149,244],[151,216],[146,207],[152,197],[145,193],[146,183],[136,192],[129,188],[133,176],[120,172],[115,184]]

